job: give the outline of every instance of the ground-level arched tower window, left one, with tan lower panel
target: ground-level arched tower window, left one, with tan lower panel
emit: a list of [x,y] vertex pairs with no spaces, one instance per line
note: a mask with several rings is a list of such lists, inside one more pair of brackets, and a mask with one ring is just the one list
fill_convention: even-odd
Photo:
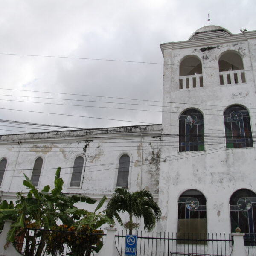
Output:
[[178,202],[178,236],[204,239],[206,234],[206,198],[198,190],[187,190],[180,196]]

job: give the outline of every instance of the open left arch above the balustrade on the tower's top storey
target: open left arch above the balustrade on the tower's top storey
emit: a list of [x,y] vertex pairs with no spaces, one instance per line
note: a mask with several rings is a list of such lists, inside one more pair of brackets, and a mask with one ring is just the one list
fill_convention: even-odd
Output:
[[196,57],[187,57],[180,63],[180,76],[202,74],[202,63]]

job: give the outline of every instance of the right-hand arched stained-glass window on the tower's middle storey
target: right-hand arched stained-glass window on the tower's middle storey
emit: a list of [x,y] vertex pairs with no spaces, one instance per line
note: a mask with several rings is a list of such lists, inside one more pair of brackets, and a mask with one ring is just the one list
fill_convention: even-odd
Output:
[[246,108],[232,105],[224,112],[227,148],[253,147],[250,115]]

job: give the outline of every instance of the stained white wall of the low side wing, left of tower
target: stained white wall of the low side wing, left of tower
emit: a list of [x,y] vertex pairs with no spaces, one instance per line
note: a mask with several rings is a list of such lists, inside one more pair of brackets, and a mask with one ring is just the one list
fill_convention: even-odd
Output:
[[[99,130],[60,131],[3,136],[0,140],[1,158],[8,161],[1,186],[2,195],[12,198],[26,191],[23,173],[32,175],[35,160],[41,157],[43,167],[38,187],[52,184],[55,171],[61,167],[64,192],[82,193],[101,198],[116,188],[119,158],[130,156],[128,188],[131,191],[147,187],[158,191],[160,125],[132,126]],[[76,157],[84,157],[80,187],[70,187]],[[142,180],[143,178],[143,180]]]

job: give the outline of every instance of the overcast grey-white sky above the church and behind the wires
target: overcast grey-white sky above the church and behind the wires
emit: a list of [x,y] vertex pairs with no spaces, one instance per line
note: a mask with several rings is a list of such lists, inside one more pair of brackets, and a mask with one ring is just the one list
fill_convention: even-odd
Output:
[[[255,0],[0,0],[0,119],[79,128],[161,123],[161,107],[146,106],[161,102],[82,95],[161,101],[159,44],[187,40],[208,25],[208,12],[211,25],[234,34],[256,30],[255,10]],[[39,131],[8,125],[0,134]]]

